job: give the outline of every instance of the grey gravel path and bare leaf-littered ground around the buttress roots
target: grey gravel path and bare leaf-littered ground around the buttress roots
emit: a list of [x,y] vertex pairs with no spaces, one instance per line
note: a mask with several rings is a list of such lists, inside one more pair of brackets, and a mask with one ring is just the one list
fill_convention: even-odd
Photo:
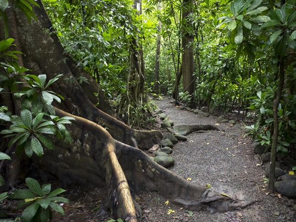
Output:
[[[175,159],[172,172],[211,190],[224,193],[234,199],[252,201],[253,205],[227,213],[191,212],[167,202],[157,192],[134,194],[137,203],[144,209],[145,222],[295,222],[295,199],[269,193],[265,182],[264,167],[253,152],[254,145],[244,137],[236,124],[220,123],[218,117],[203,117],[193,112],[180,110],[168,98],[156,101],[157,106],[178,124],[218,124],[224,130],[192,133],[187,141],[178,142],[173,148]],[[58,185],[58,184],[56,184]],[[65,217],[54,214],[54,222],[107,222],[111,212],[99,215],[97,209],[104,204],[104,188],[72,186],[63,195],[70,199],[64,204]]]

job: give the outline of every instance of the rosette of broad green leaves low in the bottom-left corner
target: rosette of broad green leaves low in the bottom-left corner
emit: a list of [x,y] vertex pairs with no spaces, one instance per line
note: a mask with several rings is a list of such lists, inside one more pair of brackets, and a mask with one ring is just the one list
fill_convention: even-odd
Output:
[[22,201],[19,202],[18,208],[30,204],[24,209],[21,215],[20,219],[23,222],[51,221],[52,212],[50,208],[64,215],[63,208],[57,202],[69,203],[69,200],[65,197],[58,197],[57,195],[66,190],[57,188],[51,191],[51,184],[40,186],[33,178],[26,178],[26,185],[28,189],[15,189],[12,192],[3,192],[0,194],[0,201],[6,198],[21,199]]

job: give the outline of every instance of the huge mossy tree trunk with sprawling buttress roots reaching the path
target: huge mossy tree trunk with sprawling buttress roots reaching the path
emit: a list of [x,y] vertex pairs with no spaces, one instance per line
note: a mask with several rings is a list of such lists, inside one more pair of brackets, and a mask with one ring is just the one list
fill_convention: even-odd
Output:
[[[38,3],[40,9],[35,8],[37,22],[29,24],[19,10],[15,13],[16,33],[26,55],[23,58],[25,67],[33,74],[46,74],[48,78],[61,73],[68,78],[77,74],[88,77],[75,68],[71,59],[63,62],[66,58],[63,47],[58,37],[50,34],[50,20],[40,0]],[[74,143],[55,141],[58,148],[46,150],[44,157],[37,159],[40,167],[55,174],[64,185],[105,185],[107,206],[116,218],[125,222],[137,221],[130,190],[159,191],[189,210],[211,207],[214,211],[225,212],[248,205],[231,204],[232,199],[188,182],[153,162],[139,148],[147,149],[158,144],[162,134],[133,130],[102,111],[111,109],[110,106],[95,107],[93,103],[97,99],[93,98],[92,92],[99,88],[91,78],[88,80],[90,84],[87,85],[79,85],[76,81],[70,85],[65,79],[53,84],[53,90],[65,97],[65,102],[56,104],[56,114],[76,119],[69,127]],[[11,101],[1,95],[1,102],[6,105]]]

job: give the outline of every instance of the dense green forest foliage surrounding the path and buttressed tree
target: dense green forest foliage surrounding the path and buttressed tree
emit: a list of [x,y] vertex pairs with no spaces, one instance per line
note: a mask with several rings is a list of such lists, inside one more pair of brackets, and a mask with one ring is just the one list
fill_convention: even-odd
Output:
[[[21,57],[27,55],[10,35],[16,27],[9,23],[8,10],[21,10],[34,24],[38,20],[34,8],[40,4],[0,0],[0,133],[1,138],[8,138],[0,147],[1,174],[4,160],[12,161],[12,154],[41,157],[44,150],[54,149],[57,139],[73,142],[65,125],[75,118],[56,115],[56,105],[67,100],[51,88],[58,81],[77,90],[76,83],[84,90],[98,83],[97,91],[90,93],[95,98],[91,102],[104,109],[102,98],[107,98],[112,108],[108,118],[116,117],[133,129],[152,128],[155,105],[149,97],[168,95],[216,115],[232,112],[242,120],[251,118],[254,124],[246,126],[249,134],[267,145],[266,151],[296,154],[295,0],[42,3],[52,22],[48,35],[56,35],[64,48],[64,59],[59,62],[70,64],[73,59],[73,70],[83,70],[88,76],[59,70],[50,78],[32,73],[30,69],[37,66],[33,62],[27,62],[33,68],[25,67]],[[42,39],[38,44],[42,47]],[[5,104],[11,95],[13,100]],[[111,132],[108,121],[100,125]],[[7,178],[1,174],[3,186]],[[0,201],[24,199],[21,205],[31,204],[23,212],[23,221],[51,219],[49,207],[64,213],[56,202],[68,202],[57,196],[65,190],[51,192],[51,185],[40,186],[32,178],[26,179],[26,185],[29,189],[0,194]]]

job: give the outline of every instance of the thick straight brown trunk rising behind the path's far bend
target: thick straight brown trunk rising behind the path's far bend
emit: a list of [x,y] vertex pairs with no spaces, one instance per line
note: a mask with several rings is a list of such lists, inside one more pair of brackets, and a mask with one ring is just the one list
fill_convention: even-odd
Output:
[[193,35],[192,25],[186,21],[187,15],[191,13],[192,0],[183,0],[182,12],[182,74],[183,74],[183,89],[191,96],[189,106],[195,107],[194,104],[194,54],[193,54]]

